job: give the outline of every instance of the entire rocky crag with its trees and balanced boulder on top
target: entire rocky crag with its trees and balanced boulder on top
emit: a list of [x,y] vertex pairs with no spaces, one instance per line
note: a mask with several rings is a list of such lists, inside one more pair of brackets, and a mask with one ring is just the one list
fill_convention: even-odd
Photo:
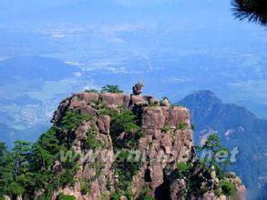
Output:
[[104,87],[112,93],[71,95],[34,145],[16,143],[11,154],[1,145],[0,197],[243,199],[239,177],[197,158],[189,109],[139,95],[141,87],[135,95],[112,85]]

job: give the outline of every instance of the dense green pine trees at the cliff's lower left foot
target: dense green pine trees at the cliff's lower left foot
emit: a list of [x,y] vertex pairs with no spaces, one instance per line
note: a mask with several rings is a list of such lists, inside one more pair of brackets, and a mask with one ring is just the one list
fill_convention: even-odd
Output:
[[[74,185],[77,172],[76,160],[62,161],[65,170],[53,174],[51,167],[60,160],[60,153],[66,154],[67,148],[59,145],[56,137],[58,128],[51,127],[41,135],[36,144],[17,141],[11,152],[5,145],[0,145],[0,196],[33,195],[36,191],[44,190],[43,199],[50,199],[52,190]],[[5,165],[5,167],[4,167]],[[2,181],[3,180],[3,181]]]

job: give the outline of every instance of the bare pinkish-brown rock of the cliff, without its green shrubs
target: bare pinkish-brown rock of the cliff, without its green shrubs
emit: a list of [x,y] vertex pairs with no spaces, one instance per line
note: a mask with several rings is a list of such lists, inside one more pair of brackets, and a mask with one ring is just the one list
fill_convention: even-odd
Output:
[[[58,124],[67,110],[76,111],[83,115],[91,115],[92,121],[84,121],[78,125],[72,145],[79,155],[80,166],[74,187],[67,186],[55,191],[53,199],[59,193],[74,195],[76,199],[108,199],[114,191],[117,181],[114,175],[113,162],[115,155],[112,139],[110,136],[111,118],[109,115],[101,115],[102,107],[117,110],[124,107],[131,110],[139,117],[141,129],[144,136],[139,139],[138,150],[146,155],[139,173],[131,180],[131,192],[138,198],[144,188],[150,189],[150,194],[156,199],[180,199],[180,191],[185,186],[186,180],[175,181],[173,178],[166,179],[166,169],[173,170],[179,162],[190,161],[192,152],[192,131],[190,129],[190,111],[181,106],[170,106],[169,101],[159,103],[152,96],[141,96],[124,94],[96,94],[81,93],[65,99],[58,106],[52,122]],[[181,128],[179,125],[183,124]],[[95,139],[101,145],[98,146],[99,154],[96,162],[90,162],[93,153],[88,148],[88,132],[92,132]],[[123,141],[128,133],[118,133],[118,140]],[[53,166],[55,173],[62,170],[60,162]],[[130,180],[129,180],[130,181]],[[82,192],[84,182],[89,182],[89,193]],[[236,181],[238,182],[238,181]],[[243,193],[244,188],[239,183]],[[203,197],[203,199],[216,199]],[[104,197],[103,197],[104,196]]]

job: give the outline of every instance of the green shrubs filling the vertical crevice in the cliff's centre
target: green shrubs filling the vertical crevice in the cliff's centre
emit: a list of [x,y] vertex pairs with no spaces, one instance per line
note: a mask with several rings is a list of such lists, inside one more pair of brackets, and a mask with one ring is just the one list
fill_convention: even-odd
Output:
[[[111,196],[111,199],[119,199],[121,195],[132,199],[133,196],[129,192],[129,186],[132,177],[137,175],[142,165],[140,159],[138,161],[135,161],[135,159],[128,160],[131,150],[137,148],[139,138],[143,136],[138,118],[124,108],[120,108],[119,111],[105,109],[103,113],[111,117],[110,135],[115,153],[118,153],[118,157],[113,164],[115,173],[118,175],[118,185],[116,185],[116,192]],[[118,140],[118,136],[122,133],[127,134],[122,140]]]

